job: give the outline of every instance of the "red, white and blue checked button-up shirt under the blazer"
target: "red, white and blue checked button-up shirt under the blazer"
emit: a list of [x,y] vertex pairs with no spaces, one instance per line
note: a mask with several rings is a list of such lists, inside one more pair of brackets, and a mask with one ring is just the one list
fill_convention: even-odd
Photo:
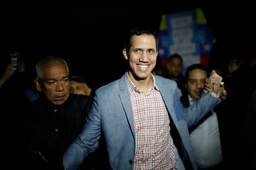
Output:
[[127,74],[135,128],[133,169],[174,169],[174,144],[166,106],[155,84],[146,92],[139,91]]

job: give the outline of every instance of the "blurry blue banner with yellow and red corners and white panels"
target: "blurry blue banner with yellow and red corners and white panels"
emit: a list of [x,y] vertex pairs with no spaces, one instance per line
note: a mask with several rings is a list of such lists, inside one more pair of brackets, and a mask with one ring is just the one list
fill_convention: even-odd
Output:
[[201,8],[162,15],[158,49],[162,66],[174,53],[183,58],[184,70],[193,63],[208,66],[213,42],[214,37]]

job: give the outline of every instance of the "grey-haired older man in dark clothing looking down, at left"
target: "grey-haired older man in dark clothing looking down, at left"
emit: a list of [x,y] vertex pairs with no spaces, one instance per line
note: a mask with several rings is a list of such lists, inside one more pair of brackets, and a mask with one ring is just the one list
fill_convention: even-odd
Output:
[[62,155],[82,130],[90,97],[70,94],[64,59],[49,56],[36,64],[40,97],[31,103],[28,147],[31,169],[64,169]]

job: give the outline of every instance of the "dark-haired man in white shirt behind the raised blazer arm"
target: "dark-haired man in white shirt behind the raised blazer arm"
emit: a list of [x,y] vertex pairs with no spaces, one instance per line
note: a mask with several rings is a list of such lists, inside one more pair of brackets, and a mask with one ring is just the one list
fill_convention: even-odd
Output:
[[[184,84],[187,94],[180,99],[184,107],[189,107],[200,98],[207,78],[208,70],[204,65],[194,64],[188,67]],[[189,133],[199,169],[220,169],[222,150],[216,112],[209,112],[189,129]]]

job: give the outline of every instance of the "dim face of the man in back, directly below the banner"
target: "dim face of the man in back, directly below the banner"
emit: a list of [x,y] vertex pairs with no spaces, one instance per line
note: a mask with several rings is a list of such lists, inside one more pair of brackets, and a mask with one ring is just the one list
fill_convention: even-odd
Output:
[[167,63],[168,73],[171,78],[179,78],[183,70],[183,63],[180,58],[172,58]]

